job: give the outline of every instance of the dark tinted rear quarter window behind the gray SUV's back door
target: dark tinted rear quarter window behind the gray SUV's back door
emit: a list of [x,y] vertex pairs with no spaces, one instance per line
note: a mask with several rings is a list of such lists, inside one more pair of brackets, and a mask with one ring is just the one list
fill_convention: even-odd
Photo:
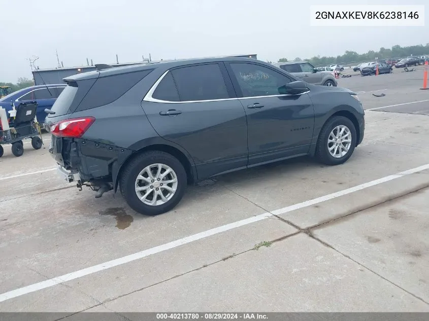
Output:
[[[125,94],[139,81],[145,78],[153,69],[141,70],[112,76],[101,76],[89,89],[75,112],[107,105]],[[61,94],[62,95],[62,94]],[[142,97],[143,98],[143,97]],[[59,99],[59,98],[58,98]]]

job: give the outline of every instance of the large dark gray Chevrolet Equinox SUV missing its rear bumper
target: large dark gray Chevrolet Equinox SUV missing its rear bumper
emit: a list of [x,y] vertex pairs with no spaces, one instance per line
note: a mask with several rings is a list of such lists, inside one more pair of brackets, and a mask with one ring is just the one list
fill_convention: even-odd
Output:
[[187,184],[214,175],[302,155],[342,164],[364,137],[355,93],[254,59],[115,67],[64,81],[46,118],[59,172],[96,197],[119,186],[145,215],[171,210]]

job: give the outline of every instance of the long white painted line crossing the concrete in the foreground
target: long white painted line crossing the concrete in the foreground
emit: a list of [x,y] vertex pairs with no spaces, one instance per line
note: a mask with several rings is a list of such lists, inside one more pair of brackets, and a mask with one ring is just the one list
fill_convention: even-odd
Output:
[[357,185],[355,187],[351,187],[351,188],[348,188],[348,189],[345,189],[345,190],[342,190],[342,191],[339,191],[336,193],[332,193],[332,194],[328,194],[328,195],[325,195],[322,197],[318,197],[318,198],[315,198],[315,199],[312,199],[309,201],[305,201],[305,202],[301,202],[301,203],[294,204],[291,206],[287,206],[284,208],[280,208],[280,209],[274,210],[272,212],[263,213],[263,214],[260,214],[260,215],[257,215],[257,216],[254,216],[254,217],[251,217],[248,219],[244,219],[244,220],[237,221],[234,223],[222,225],[222,226],[216,227],[216,228],[211,229],[211,230],[207,230],[207,231],[203,231],[203,232],[200,232],[197,234],[186,236],[184,238],[172,241],[170,243],[166,243],[166,244],[158,245],[158,246],[155,246],[152,248],[148,248],[148,249],[145,249],[144,251],[141,251],[141,252],[138,252],[135,254],[130,254],[130,255],[124,256],[124,257],[119,258],[119,259],[115,259],[115,260],[108,261],[105,263],[97,264],[97,265],[94,265],[94,266],[91,266],[91,267],[88,267],[88,268],[85,268],[85,269],[82,269],[79,271],[71,272],[71,273],[64,274],[61,276],[57,276],[57,277],[54,277],[54,278],[51,278],[51,279],[48,279],[45,281],[34,283],[34,284],[31,284],[31,285],[26,286],[26,287],[22,287],[22,288],[19,288],[16,290],[12,290],[12,291],[9,291],[6,293],[2,293],[2,294],[0,294],[0,302],[6,301],[6,300],[9,300],[12,298],[16,298],[16,297],[19,297],[19,296],[22,296],[22,295],[25,295],[25,294],[28,294],[31,292],[36,292],[39,290],[50,288],[50,287],[53,287],[57,284],[64,283],[66,281],[74,280],[74,279],[80,278],[80,277],[85,276],[85,275],[100,272],[100,271],[107,270],[107,269],[110,269],[110,268],[118,266],[118,265],[122,265],[125,263],[136,261],[136,260],[148,257],[148,256],[153,255],[153,254],[157,254],[157,253],[160,253],[163,251],[167,251],[168,249],[171,249],[171,248],[174,248],[174,247],[177,247],[180,245],[184,245],[184,244],[187,244],[187,243],[190,243],[190,242],[193,242],[196,240],[200,240],[200,239],[203,239],[203,238],[215,235],[215,234],[219,234],[219,233],[222,233],[222,232],[225,232],[228,230],[235,229],[235,228],[240,227],[240,226],[244,226],[247,224],[262,221],[262,220],[265,220],[265,219],[267,219],[273,215],[284,214],[284,213],[290,212],[290,211],[295,210],[295,209],[307,207],[307,206],[314,205],[314,204],[317,204],[320,202],[324,202],[324,201],[327,201],[330,199],[334,199],[334,198],[337,198],[337,197],[340,197],[340,196],[343,196],[346,194],[350,194],[350,193],[353,193],[353,192],[356,192],[356,191],[359,191],[359,190],[362,190],[362,189],[365,189],[365,188],[368,188],[368,187],[371,187],[374,185],[378,185],[378,184],[381,184],[384,182],[388,182],[388,181],[391,181],[394,179],[398,179],[399,177],[402,177],[404,175],[413,174],[413,173],[416,173],[416,172],[419,172],[419,171],[422,171],[425,169],[429,169],[429,164],[425,164],[425,165],[422,165],[422,166],[419,166],[416,168],[412,168],[412,169],[400,172],[398,174],[385,176],[385,177],[382,177],[381,179],[378,179],[375,181],[360,184],[360,185]]

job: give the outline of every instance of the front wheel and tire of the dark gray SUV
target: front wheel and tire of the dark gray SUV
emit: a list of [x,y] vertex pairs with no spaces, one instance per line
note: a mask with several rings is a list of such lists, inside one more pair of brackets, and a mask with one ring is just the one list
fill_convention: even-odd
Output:
[[356,147],[356,129],[350,119],[335,116],[322,127],[317,139],[315,157],[327,165],[346,162]]

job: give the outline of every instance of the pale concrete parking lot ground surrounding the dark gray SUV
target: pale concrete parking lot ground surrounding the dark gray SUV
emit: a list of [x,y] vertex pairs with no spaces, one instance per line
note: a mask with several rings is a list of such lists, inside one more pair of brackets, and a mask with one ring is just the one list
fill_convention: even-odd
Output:
[[347,163],[218,176],[157,217],[5,147],[0,311],[429,311],[429,90],[401,70],[339,79],[368,110]]

